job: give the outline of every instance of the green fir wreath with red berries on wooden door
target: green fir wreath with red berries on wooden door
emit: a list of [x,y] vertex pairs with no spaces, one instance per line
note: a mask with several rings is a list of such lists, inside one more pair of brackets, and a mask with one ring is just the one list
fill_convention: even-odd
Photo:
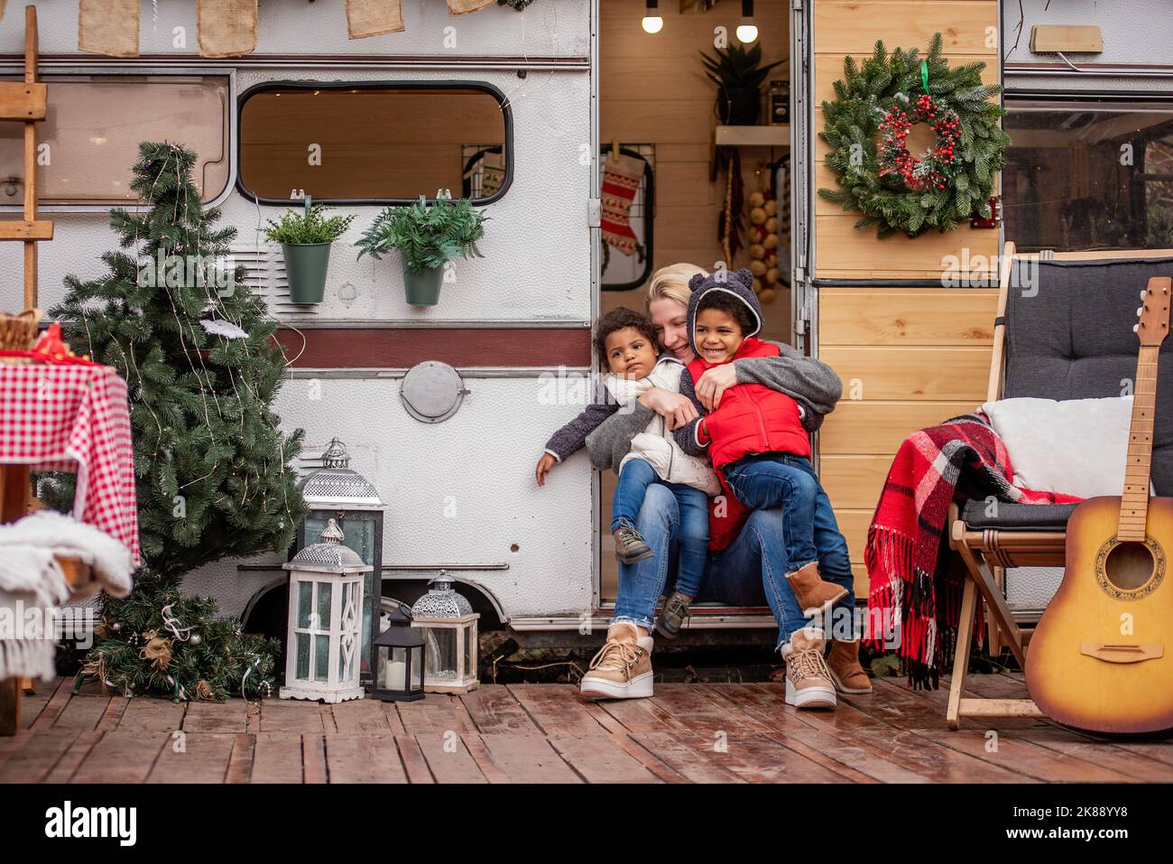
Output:
[[[940,33],[923,59],[916,48],[888,54],[883,42],[862,63],[847,58],[835,101],[822,103],[819,133],[832,147],[827,167],[840,188],[819,195],[862,214],[856,230],[879,227],[880,237],[944,234],[971,215],[990,218],[1010,136],[998,126],[1005,112],[989,101],[1002,88],[982,83],[984,68],[950,68]],[[907,140],[917,123],[933,129],[936,143],[913,154]]]

